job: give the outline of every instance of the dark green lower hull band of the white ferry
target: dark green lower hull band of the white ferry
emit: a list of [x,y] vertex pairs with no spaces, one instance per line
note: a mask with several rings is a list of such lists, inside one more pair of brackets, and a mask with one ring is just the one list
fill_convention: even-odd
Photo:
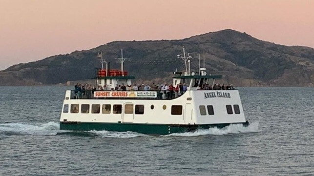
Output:
[[[238,123],[248,125],[248,122]],[[93,123],[93,122],[60,122],[60,130],[90,131],[106,130],[116,132],[132,131],[150,135],[168,135],[171,133],[192,132],[197,129],[211,127],[223,128],[230,123],[203,124],[203,125],[175,125],[175,124],[139,124],[139,123]]]

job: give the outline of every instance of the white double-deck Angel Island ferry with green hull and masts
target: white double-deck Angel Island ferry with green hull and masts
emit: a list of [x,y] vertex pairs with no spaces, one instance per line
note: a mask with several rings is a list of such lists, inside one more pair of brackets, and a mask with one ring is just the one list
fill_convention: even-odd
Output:
[[[168,95],[164,90],[112,91],[116,85],[131,85],[135,77],[124,71],[123,52],[121,70],[97,69],[96,85],[107,90],[67,90],[63,100],[60,129],[72,131],[106,130],[137,132],[150,135],[185,133],[211,127],[223,128],[230,124],[249,125],[243,112],[238,90],[198,90],[203,84],[214,85],[221,75],[207,75],[205,68],[199,74],[190,73],[189,60],[183,48],[184,73],[174,72],[173,85],[186,84],[187,90]],[[205,57],[204,57],[205,60]],[[187,68],[188,61],[188,68]],[[105,62],[106,63],[106,62]],[[205,66],[205,61],[204,61]]]

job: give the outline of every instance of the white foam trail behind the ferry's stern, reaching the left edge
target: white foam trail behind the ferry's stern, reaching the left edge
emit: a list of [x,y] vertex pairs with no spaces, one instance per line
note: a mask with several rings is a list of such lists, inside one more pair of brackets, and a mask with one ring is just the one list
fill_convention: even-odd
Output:
[[0,124],[0,133],[12,132],[28,135],[57,135],[59,131],[59,123],[53,121],[41,125],[32,125],[21,122]]

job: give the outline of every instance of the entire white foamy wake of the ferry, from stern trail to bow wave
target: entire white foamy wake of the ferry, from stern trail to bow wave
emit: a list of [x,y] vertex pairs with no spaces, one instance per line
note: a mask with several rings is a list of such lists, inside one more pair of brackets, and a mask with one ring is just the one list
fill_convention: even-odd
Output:
[[[196,137],[204,135],[228,135],[238,133],[253,133],[258,132],[258,122],[252,122],[249,126],[244,127],[242,124],[232,124],[225,128],[209,128],[197,130],[195,132],[174,133],[161,137]],[[0,123],[0,135],[38,135],[38,136],[55,136],[55,135],[70,135],[70,136],[99,136],[104,138],[132,138],[132,137],[148,137],[149,135],[136,132],[110,132],[110,131],[63,131],[59,129],[59,122],[48,122],[44,124],[27,124],[27,123]]]

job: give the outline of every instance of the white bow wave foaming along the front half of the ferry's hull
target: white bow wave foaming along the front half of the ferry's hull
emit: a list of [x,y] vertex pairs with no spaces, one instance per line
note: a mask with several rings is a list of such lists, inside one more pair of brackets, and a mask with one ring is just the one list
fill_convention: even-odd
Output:
[[173,133],[167,136],[177,136],[177,137],[196,137],[203,135],[227,135],[227,134],[238,134],[238,133],[252,133],[258,132],[258,122],[252,122],[249,126],[244,127],[242,124],[231,124],[225,128],[209,128],[197,130],[195,132],[187,133]]

